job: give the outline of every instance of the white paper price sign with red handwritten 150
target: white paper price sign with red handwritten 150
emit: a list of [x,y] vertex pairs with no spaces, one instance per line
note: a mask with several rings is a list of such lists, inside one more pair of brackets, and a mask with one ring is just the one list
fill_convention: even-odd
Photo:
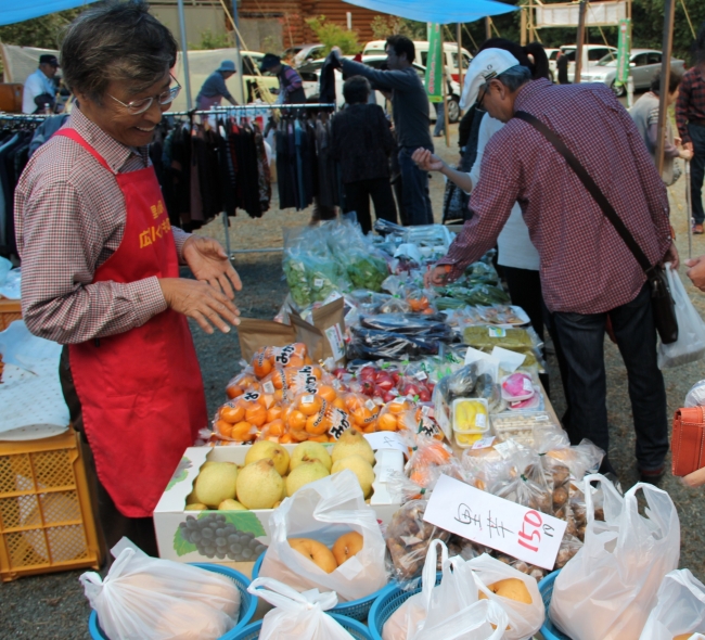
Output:
[[437,527],[552,569],[567,523],[441,475],[423,519]]

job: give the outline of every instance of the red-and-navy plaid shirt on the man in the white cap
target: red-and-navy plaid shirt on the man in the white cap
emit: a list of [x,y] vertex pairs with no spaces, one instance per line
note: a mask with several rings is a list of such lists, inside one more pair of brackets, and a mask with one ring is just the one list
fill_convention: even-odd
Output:
[[[606,195],[652,264],[670,246],[668,197],[631,117],[604,85],[520,89],[514,108],[556,131]],[[485,148],[473,218],[441,265],[458,277],[495,245],[518,201],[541,259],[551,311],[600,313],[632,300],[645,277],[563,156],[528,123],[510,120]]]

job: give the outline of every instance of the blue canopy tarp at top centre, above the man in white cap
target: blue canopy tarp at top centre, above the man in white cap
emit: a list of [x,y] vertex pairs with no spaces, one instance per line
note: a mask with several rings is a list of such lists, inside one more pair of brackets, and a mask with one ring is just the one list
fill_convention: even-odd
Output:
[[419,22],[450,23],[474,22],[487,15],[501,15],[516,11],[516,7],[492,0],[344,0],[379,13],[389,13]]

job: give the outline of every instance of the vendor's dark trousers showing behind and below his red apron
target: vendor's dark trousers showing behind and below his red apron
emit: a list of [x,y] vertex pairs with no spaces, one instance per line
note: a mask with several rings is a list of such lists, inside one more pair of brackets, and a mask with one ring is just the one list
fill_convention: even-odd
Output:
[[[81,436],[81,452],[91,491],[93,513],[98,517],[99,536],[102,534],[104,546],[103,558],[107,559],[108,565],[112,564],[113,556],[110,551],[119,542],[123,536],[127,536],[149,555],[158,558],[159,553],[156,543],[156,534],[154,532],[154,521],[151,517],[127,517],[123,515],[115,505],[115,502],[113,502],[107,489],[98,478],[93,452],[86,437],[86,431],[84,430],[80,400],[76,393],[74,377],[68,366],[68,347],[64,347],[61,353],[59,377],[62,392],[64,393],[64,399],[68,406],[70,421],[74,424],[74,428]],[[139,443],[134,443],[134,446],[139,447]],[[114,460],[114,464],[119,464],[119,461]]]

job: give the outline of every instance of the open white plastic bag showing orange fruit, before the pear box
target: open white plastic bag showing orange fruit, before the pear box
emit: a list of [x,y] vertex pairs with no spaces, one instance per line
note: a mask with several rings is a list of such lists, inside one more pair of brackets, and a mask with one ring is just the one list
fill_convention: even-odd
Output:
[[[297,591],[315,587],[335,591],[341,601],[364,598],[387,584],[384,537],[375,512],[364,503],[350,470],[302,487],[272,512],[269,523],[271,542],[260,576],[274,578]],[[330,574],[287,542],[287,538],[312,538],[330,549],[349,532],[362,536],[362,549]]]

